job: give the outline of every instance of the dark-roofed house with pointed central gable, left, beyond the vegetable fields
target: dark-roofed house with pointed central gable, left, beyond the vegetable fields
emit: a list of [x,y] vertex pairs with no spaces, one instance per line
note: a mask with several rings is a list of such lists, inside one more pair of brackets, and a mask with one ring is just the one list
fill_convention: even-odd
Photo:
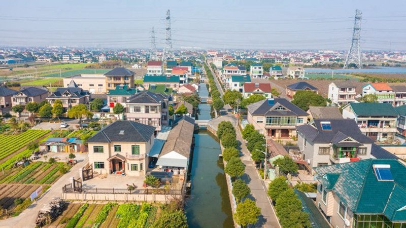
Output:
[[91,94],[87,90],[79,88],[78,85],[71,81],[66,88],[56,88],[55,92],[52,92],[46,100],[52,105],[55,100],[62,101],[64,108],[71,108],[78,104],[89,104]]

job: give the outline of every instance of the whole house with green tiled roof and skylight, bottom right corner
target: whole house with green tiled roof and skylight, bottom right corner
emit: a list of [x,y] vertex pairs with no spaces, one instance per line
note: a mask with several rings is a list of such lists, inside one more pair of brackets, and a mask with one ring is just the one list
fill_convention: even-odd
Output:
[[314,168],[316,204],[332,227],[403,227],[406,167],[367,159]]

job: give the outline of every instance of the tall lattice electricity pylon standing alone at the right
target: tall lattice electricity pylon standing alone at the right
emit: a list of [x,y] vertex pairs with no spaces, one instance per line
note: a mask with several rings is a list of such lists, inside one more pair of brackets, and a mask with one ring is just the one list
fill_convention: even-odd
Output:
[[359,48],[361,38],[361,14],[360,10],[355,11],[354,29],[352,33],[352,42],[350,50],[348,51],[346,62],[344,63],[344,69],[351,63],[354,63],[359,69],[362,68],[361,53]]

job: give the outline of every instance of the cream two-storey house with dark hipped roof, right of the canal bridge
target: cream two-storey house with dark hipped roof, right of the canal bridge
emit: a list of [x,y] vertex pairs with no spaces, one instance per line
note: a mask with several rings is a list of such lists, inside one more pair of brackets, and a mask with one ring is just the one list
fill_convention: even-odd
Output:
[[268,98],[247,105],[248,123],[273,139],[290,140],[296,127],[307,123],[308,113],[285,98]]

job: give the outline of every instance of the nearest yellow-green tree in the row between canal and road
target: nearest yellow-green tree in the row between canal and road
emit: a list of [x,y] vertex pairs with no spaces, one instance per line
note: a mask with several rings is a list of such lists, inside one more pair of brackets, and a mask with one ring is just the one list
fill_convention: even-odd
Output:
[[260,214],[261,209],[255,205],[255,202],[246,199],[244,202],[237,204],[234,216],[237,224],[247,226],[248,224],[255,224]]

